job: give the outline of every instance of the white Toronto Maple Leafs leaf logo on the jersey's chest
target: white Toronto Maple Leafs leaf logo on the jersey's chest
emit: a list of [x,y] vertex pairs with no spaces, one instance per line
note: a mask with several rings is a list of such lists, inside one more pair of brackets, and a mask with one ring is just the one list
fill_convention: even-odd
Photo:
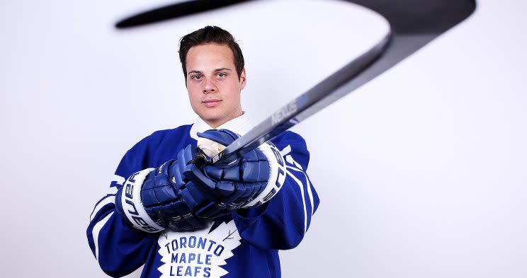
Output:
[[210,222],[199,231],[165,231],[157,241],[164,262],[158,270],[161,277],[220,278],[228,273],[221,266],[241,239],[233,220]]

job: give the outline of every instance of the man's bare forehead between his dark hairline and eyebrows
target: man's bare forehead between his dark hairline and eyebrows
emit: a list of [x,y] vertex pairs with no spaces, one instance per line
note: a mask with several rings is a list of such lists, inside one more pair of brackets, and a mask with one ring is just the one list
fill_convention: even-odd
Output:
[[186,55],[186,68],[191,70],[203,70],[208,67],[234,66],[234,54],[227,45],[196,45],[188,50]]

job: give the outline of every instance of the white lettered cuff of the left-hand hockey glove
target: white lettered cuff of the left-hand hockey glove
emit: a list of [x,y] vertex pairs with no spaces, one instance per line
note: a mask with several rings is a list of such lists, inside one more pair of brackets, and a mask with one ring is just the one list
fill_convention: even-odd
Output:
[[147,175],[155,170],[154,168],[147,168],[133,173],[123,183],[123,190],[120,190],[120,206],[123,208],[123,213],[130,224],[137,228],[137,230],[145,231],[147,233],[157,233],[163,231],[162,226],[157,225],[152,218],[145,211],[141,202],[141,187],[145,183]]

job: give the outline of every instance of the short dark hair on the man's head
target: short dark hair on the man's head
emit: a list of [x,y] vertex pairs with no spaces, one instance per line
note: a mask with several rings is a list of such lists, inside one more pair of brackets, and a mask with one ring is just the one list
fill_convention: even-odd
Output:
[[181,37],[179,41],[179,60],[181,61],[181,66],[183,66],[183,74],[186,79],[186,54],[191,47],[196,45],[227,45],[232,54],[234,55],[234,66],[236,66],[236,72],[238,74],[238,79],[242,76],[242,69],[244,69],[244,55],[242,50],[239,48],[237,42],[234,41],[234,37],[217,26],[205,26],[196,30],[188,35]]

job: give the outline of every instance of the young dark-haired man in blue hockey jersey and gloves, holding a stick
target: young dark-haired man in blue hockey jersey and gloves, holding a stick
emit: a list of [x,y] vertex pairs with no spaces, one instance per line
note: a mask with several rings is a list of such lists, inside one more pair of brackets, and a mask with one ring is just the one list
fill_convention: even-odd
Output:
[[91,213],[90,248],[113,277],[142,265],[141,277],[280,277],[278,250],[300,243],[319,204],[305,141],[284,132],[232,163],[195,159],[250,129],[244,59],[212,26],[184,36],[179,54],[198,120],[125,154]]

